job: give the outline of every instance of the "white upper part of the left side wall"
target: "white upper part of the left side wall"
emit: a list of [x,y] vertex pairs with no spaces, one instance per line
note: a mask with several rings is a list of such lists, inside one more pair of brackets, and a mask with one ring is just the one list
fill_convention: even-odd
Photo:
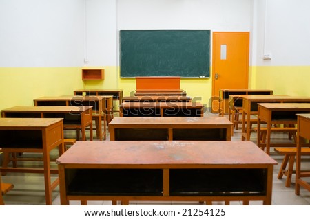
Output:
[[0,0],[0,67],[83,65],[83,0]]

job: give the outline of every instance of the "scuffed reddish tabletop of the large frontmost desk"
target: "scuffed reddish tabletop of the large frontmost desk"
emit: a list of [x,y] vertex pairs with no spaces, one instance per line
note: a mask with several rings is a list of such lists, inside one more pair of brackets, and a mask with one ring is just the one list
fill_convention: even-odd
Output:
[[250,141],[77,141],[56,163],[81,168],[260,168],[277,162]]

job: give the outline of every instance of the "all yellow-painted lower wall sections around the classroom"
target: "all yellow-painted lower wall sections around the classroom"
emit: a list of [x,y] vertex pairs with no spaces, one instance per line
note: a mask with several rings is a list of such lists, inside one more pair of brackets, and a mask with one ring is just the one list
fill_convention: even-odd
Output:
[[[119,78],[119,68],[105,69],[105,80],[81,80],[81,67],[0,68],[0,110],[33,106],[43,96],[73,95],[74,89],[123,89],[134,95],[136,80]],[[249,88],[272,89],[275,95],[310,96],[310,66],[254,66],[249,68]],[[181,79],[180,88],[194,101],[210,107],[212,80]]]

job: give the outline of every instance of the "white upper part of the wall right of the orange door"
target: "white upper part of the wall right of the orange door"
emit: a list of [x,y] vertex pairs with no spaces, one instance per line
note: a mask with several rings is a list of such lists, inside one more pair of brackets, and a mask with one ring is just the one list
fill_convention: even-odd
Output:
[[[310,65],[309,8],[307,0],[254,0],[253,65]],[[271,60],[262,60],[264,52]]]

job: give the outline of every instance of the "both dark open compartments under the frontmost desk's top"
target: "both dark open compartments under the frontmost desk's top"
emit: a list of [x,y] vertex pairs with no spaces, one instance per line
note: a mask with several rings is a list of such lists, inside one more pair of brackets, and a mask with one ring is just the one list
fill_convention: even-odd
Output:
[[[68,196],[264,196],[265,169],[66,169]],[[186,176],[186,177],[185,177]],[[163,181],[169,181],[163,187]]]

